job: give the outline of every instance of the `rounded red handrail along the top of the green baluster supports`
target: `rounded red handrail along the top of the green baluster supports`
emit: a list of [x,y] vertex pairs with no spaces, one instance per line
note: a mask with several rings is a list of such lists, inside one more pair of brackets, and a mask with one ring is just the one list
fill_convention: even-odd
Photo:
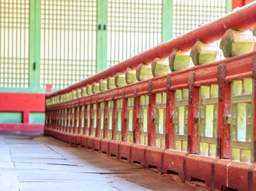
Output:
[[197,39],[203,42],[215,42],[221,39],[228,28],[238,28],[241,30],[251,29],[256,23],[256,1],[247,4],[240,9],[236,9],[229,14],[206,23],[187,34],[178,36],[176,39],[172,39],[165,43],[159,44],[156,47],[152,47],[146,51],[140,52],[138,55],[133,56],[125,61],[121,61],[116,66],[112,66],[105,71],[99,72],[92,77],[83,79],[67,88],[50,93],[46,95],[47,98],[51,98],[55,95],[61,95],[71,90],[75,90],[86,85],[90,85],[93,82],[99,82],[100,79],[107,79],[108,77],[114,77],[118,72],[124,72],[127,68],[135,69],[140,63],[151,63],[154,58],[167,58],[173,48],[178,50],[187,51],[190,50]]

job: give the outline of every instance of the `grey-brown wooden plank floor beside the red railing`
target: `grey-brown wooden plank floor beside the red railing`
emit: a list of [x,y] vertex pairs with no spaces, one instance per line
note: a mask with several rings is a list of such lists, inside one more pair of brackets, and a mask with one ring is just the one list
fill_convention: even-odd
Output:
[[0,136],[0,190],[206,190],[47,136]]

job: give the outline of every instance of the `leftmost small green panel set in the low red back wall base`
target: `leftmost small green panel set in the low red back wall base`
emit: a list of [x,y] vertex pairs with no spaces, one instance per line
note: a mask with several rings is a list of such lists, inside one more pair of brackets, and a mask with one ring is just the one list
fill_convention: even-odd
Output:
[[0,123],[23,123],[23,113],[0,112]]

